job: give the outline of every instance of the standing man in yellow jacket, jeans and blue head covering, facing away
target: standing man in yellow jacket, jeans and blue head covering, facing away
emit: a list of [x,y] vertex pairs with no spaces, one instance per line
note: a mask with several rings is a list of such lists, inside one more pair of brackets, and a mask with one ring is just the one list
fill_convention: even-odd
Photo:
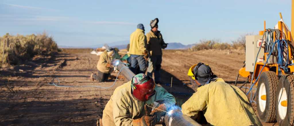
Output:
[[[134,31],[130,36],[130,49],[129,54],[131,58],[131,71],[134,74],[145,73],[146,71],[146,60],[144,55],[147,54],[146,51],[146,36],[143,24],[138,24],[136,31]],[[140,71],[136,72],[139,65]]]

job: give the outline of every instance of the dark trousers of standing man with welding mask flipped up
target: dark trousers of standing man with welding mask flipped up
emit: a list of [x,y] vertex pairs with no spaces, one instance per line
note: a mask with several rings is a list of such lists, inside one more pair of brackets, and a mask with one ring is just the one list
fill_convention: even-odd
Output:
[[149,58],[147,76],[152,76],[152,73],[154,72],[155,82],[161,81],[161,77],[160,77],[161,62],[162,62],[162,55],[151,56]]

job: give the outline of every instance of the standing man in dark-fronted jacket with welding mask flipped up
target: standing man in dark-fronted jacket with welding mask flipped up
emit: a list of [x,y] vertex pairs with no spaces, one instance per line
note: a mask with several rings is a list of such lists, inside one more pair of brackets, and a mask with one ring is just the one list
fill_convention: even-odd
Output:
[[147,50],[150,54],[147,76],[152,76],[154,72],[154,81],[156,84],[161,83],[160,68],[162,62],[162,50],[167,47],[163,41],[162,35],[158,30],[158,18],[150,21],[151,30],[146,34]]

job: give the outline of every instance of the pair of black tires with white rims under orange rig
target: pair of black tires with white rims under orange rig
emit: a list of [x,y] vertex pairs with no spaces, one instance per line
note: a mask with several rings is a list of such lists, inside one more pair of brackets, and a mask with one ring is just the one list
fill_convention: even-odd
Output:
[[257,112],[262,122],[278,122],[280,126],[294,124],[294,75],[278,76],[273,71],[260,74]]

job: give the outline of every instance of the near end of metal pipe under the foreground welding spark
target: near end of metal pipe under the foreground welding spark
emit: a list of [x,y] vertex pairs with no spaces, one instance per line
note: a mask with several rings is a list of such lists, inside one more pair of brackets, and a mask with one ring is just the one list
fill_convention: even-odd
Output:
[[164,116],[166,126],[201,126],[198,122],[187,115],[184,115],[181,110],[171,110]]

